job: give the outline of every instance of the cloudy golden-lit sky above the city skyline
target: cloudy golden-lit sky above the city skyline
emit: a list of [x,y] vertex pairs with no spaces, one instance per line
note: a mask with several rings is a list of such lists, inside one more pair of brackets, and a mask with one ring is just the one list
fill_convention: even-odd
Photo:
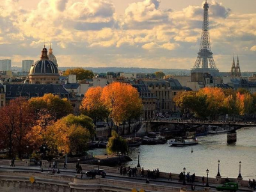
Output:
[[[208,0],[216,66],[256,71],[256,1]],[[40,58],[52,42],[60,67],[193,67],[202,0],[2,0],[0,58]]]

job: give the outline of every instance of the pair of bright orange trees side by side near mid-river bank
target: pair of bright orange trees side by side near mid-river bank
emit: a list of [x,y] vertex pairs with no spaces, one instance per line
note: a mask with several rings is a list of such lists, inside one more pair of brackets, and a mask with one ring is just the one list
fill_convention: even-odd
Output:
[[81,109],[86,115],[99,120],[105,118],[112,129],[122,122],[140,118],[142,101],[131,84],[114,82],[104,88],[90,88],[84,95]]

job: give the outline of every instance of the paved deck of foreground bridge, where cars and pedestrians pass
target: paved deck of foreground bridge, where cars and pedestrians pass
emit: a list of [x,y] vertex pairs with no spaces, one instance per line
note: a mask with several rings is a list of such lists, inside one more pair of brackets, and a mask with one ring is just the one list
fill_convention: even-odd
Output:
[[[15,167],[10,167],[10,166],[0,166],[0,171],[22,171],[22,172],[41,172],[41,168],[39,166],[15,166]],[[57,170],[57,169],[55,169]],[[88,170],[83,170],[83,172],[86,172]],[[52,169],[44,168],[44,172],[52,172]],[[74,176],[76,174],[76,170],[71,170],[71,169],[60,169],[60,175],[71,175]],[[56,173],[57,174],[57,173]],[[84,175],[83,178],[86,178]],[[118,173],[107,173],[106,176],[107,179],[117,179],[118,180],[125,180],[125,181],[131,181],[131,182],[141,182],[145,183],[146,178],[137,176],[137,177],[128,177],[125,175],[120,175]],[[179,182],[176,179],[173,180],[168,180],[165,178],[158,178],[158,179],[150,179],[150,184],[156,184],[156,185],[162,185],[162,186],[173,186],[180,188],[182,186],[182,182]],[[202,185],[202,182],[194,182],[193,184],[196,185],[196,190],[202,190],[204,189],[204,185]],[[188,183],[188,189],[190,189],[190,186],[193,185],[192,183]],[[220,184],[209,184],[211,186],[212,191],[216,191],[216,186],[219,186]],[[245,187],[239,187],[238,191],[253,191],[252,189],[248,189]]]

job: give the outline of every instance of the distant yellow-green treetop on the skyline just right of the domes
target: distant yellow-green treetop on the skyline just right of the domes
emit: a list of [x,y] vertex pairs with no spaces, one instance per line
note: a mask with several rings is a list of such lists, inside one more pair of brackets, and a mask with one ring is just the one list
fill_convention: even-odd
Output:
[[91,70],[85,70],[83,68],[68,68],[64,72],[64,76],[68,76],[70,74],[76,74],[76,79],[79,81],[82,81],[84,79],[92,79],[93,78],[93,72]]

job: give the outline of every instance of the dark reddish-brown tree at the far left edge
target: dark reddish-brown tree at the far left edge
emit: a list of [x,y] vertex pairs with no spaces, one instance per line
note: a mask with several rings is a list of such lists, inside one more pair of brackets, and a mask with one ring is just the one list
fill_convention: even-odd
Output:
[[14,156],[15,152],[19,158],[22,157],[22,152],[28,145],[26,134],[33,127],[33,120],[28,102],[22,97],[11,100],[7,106],[0,109],[1,145],[8,148],[9,157]]

